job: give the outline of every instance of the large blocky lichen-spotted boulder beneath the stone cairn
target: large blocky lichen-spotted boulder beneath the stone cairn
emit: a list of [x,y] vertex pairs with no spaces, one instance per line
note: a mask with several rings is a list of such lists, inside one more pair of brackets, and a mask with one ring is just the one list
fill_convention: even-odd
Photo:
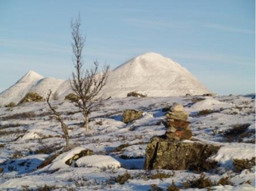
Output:
[[145,170],[194,170],[215,155],[220,146],[153,137],[146,147]]

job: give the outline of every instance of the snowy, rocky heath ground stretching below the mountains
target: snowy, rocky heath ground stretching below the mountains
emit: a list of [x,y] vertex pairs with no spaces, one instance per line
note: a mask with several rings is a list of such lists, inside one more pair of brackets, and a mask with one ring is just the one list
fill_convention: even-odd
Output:
[[[91,113],[89,136],[85,135],[85,128],[81,127],[82,116],[69,113],[76,109],[71,102],[52,101],[53,106],[63,112],[73,148],[62,152],[49,165],[39,169],[37,167],[44,159],[63,150],[65,140],[60,124],[50,115],[46,102],[26,103],[14,108],[2,107],[0,190],[37,190],[38,186],[56,185],[56,190],[147,191],[152,189],[151,184],[166,190],[172,180],[181,186],[187,179],[200,174],[194,171],[160,170],[172,176],[152,179],[150,174],[159,172],[143,170],[146,143],[152,136],[165,133],[165,127],[160,123],[165,118],[162,108],[174,102],[183,104],[189,112],[193,140],[222,146],[211,157],[218,162],[219,167],[205,174],[216,181],[230,176],[234,185],[218,185],[212,189],[255,190],[255,167],[239,173],[234,172],[233,167],[233,159],[251,159],[255,156],[255,94],[109,99]],[[125,124],[122,122],[122,113],[126,109],[142,110],[143,117]],[[210,112],[198,114],[206,109]],[[244,124],[245,132],[240,132],[241,136],[232,134],[225,137],[225,132]],[[126,147],[114,150],[121,144],[126,144]],[[65,164],[84,148],[93,150],[94,155],[78,159],[78,167]],[[114,177],[125,172],[131,174],[131,179],[124,184],[114,182]]]

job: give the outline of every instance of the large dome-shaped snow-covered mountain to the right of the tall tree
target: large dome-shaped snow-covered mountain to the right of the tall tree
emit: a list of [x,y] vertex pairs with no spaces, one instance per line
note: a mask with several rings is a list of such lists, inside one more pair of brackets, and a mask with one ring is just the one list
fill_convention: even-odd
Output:
[[151,97],[210,92],[187,69],[157,53],[143,54],[114,69],[102,92],[107,96],[125,97],[135,90]]

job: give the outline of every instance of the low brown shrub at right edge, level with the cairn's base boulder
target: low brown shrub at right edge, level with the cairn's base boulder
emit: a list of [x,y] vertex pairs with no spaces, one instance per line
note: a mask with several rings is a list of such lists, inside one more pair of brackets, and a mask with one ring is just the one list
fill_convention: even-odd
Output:
[[255,166],[255,156],[249,159],[233,159],[234,172],[240,173]]

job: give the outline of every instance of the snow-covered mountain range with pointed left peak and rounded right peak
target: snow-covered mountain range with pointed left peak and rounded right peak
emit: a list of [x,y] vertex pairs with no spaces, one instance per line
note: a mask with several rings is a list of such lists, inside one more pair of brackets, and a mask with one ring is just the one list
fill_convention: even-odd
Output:
[[[17,83],[0,94],[0,106],[19,102],[28,92],[46,97],[51,89],[55,97],[64,99],[72,92],[68,80],[44,78],[34,71],[27,72]],[[106,97],[122,98],[131,91],[148,96],[182,96],[210,93],[187,69],[157,53],[146,53],[123,63],[110,72],[102,93]]]

